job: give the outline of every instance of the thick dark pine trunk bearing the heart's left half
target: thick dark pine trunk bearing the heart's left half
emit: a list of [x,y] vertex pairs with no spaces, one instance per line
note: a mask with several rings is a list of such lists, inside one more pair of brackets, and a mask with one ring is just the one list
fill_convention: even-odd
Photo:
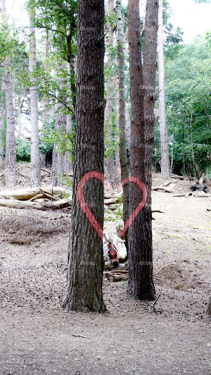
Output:
[[[93,28],[93,31],[83,31],[86,28]],[[68,287],[62,306],[84,312],[106,311],[102,297],[104,269],[102,249],[104,216],[103,35],[104,0],[97,2],[79,0],[71,236]],[[95,90],[90,87],[95,87]],[[78,186],[80,181],[81,184]],[[92,210],[95,219],[91,216],[88,207]]]

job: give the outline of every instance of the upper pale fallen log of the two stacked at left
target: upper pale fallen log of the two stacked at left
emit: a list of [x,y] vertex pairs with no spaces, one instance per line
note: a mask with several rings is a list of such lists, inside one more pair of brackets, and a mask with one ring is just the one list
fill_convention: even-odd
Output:
[[5,191],[2,190],[0,191],[0,198],[4,198],[4,199],[12,198],[12,199],[17,199],[19,201],[28,201],[29,199],[32,199],[36,195],[40,195],[40,194],[42,194],[40,198],[47,198],[47,196],[45,196],[45,193],[47,193],[48,195],[52,195],[52,194],[60,195],[61,193],[63,193],[64,190],[65,189],[63,189],[60,186],[45,187],[42,189],[42,191],[39,189],[39,187],[37,188],[28,187],[27,189],[19,189],[19,190],[5,190]]

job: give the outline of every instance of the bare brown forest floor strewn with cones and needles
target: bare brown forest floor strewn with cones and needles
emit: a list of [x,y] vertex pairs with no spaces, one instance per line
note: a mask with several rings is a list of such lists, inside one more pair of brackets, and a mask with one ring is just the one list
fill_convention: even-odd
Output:
[[[154,186],[160,181],[154,175]],[[176,181],[181,192],[192,183]],[[205,315],[211,198],[173,195],[152,192],[152,209],[165,212],[153,214],[154,272],[179,265],[159,273],[165,281],[155,279],[161,314],[128,298],[126,282],[108,281],[106,314],[60,309],[68,233],[29,245],[2,241],[0,233],[0,375],[211,374],[211,318]]]

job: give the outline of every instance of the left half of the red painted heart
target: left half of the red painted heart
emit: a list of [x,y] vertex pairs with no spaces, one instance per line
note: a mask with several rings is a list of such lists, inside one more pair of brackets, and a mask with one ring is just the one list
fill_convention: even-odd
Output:
[[83,210],[84,214],[86,215],[87,219],[89,220],[90,224],[93,226],[95,231],[98,233],[99,238],[102,240],[102,228],[95,219],[93,213],[90,211],[89,207],[87,206],[84,196],[83,196],[83,187],[85,183],[90,180],[90,178],[98,178],[102,183],[104,181],[104,176],[102,173],[93,171],[88,172],[84,174],[84,176],[81,178],[80,182],[77,186],[77,199],[81,206],[81,209]]

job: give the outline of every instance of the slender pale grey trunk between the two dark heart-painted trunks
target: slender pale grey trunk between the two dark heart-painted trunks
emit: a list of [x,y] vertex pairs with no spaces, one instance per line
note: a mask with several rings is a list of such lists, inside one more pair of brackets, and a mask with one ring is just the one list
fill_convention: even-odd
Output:
[[[126,131],[125,131],[125,63],[122,21],[122,0],[116,0],[115,12],[117,15],[117,55],[118,55],[118,78],[119,78],[119,159],[121,165],[122,181],[129,178]],[[123,220],[126,224],[129,214],[129,182],[122,184],[123,191]],[[128,249],[128,230],[125,231],[125,246]]]

